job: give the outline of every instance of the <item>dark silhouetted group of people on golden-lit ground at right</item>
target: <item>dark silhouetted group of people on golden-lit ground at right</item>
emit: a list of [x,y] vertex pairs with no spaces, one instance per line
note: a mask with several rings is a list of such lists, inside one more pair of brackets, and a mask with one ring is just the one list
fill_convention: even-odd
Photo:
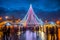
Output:
[[49,35],[51,36],[50,40],[58,40],[58,27],[57,26],[52,26],[50,28],[46,27],[46,35],[47,40],[49,40],[48,38]]

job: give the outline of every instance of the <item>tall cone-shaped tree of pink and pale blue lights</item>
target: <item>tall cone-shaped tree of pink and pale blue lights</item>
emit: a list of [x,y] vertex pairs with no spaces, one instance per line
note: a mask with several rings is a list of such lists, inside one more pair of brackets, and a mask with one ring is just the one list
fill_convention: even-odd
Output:
[[[24,23],[25,22],[25,23]],[[26,14],[26,16],[23,18],[23,20],[20,22],[20,24],[26,24],[26,26],[31,25],[43,25],[43,22],[41,19],[38,19],[36,14],[33,11],[32,5],[30,5],[30,8]]]

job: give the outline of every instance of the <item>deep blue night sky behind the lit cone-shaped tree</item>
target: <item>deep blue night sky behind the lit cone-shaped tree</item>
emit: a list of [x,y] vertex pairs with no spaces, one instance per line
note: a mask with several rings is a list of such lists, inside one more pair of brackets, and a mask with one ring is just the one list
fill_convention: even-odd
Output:
[[30,4],[42,20],[60,19],[60,0],[0,0],[0,16],[23,18]]

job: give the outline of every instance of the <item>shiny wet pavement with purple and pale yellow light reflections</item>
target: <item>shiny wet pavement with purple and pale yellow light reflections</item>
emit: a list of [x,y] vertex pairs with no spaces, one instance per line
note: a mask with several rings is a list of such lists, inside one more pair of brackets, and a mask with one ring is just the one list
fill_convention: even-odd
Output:
[[[5,40],[7,40],[6,37]],[[32,32],[27,30],[25,32],[22,32],[20,35],[10,35],[10,37],[8,37],[8,40],[46,40],[46,37],[44,32]]]

